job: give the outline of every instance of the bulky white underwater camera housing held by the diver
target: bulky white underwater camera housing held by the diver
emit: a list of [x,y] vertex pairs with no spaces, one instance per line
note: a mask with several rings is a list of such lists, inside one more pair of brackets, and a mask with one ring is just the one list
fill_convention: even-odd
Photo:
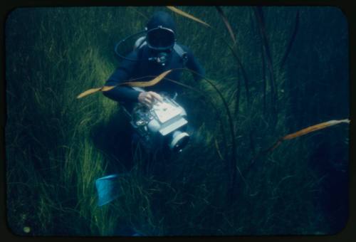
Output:
[[162,145],[162,148],[168,146],[172,152],[182,152],[189,142],[189,135],[185,132],[187,112],[174,100],[175,97],[159,94],[162,102],[155,102],[151,109],[137,103],[130,123],[148,149]]

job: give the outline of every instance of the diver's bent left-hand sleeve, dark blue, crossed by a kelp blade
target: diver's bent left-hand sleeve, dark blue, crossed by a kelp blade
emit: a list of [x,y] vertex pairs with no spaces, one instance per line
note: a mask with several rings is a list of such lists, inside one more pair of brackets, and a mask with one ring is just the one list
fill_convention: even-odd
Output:
[[[137,59],[137,53],[134,51],[127,57]],[[118,85],[132,78],[132,73],[134,73],[135,70],[135,64],[135,61],[122,61],[122,63],[120,63],[120,67],[117,68],[106,81],[105,86]],[[117,102],[137,102],[139,94],[139,91],[125,86],[117,86],[112,90],[103,92],[103,95]]]

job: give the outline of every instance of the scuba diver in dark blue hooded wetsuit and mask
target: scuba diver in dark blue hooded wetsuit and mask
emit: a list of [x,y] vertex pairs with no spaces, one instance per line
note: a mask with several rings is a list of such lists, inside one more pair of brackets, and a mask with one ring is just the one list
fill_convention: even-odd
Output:
[[[142,33],[144,33],[145,36],[142,36]],[[118,46],[124,43],[128,38],[135,37],[139,34],[141,34],[142,37],[138,38],[135,42],[133,51],[127,56],[122,56],[120,52],[117,51]],[[192,70],[194,80],[199,80],[204,76],[204,69],[201,68],[201,65],[194,57],[192,51],[190,51],[187,46],[177,43],[174,20],[172,16],[164,11],[157,11],[153,14],[147,23],[145,31],[135,33],[117,43],[115,53],[123,60],[115,72],[110,75],[105,86],[115,86],[127,81],[145,82],[152,80],[166,70],[172,70],[159,83],[146,87],[145,90],[128,86],[116,86],[112,90],[103,92],[103,95],[106,97],[119,102],[129,116],[137,103],[152,108],[156,102],[162,102],[162,96],[159,95],[159,93],[164,93],[164,95],[174,98],[175,100],[177,95],[182,93],[182,86],[169,80],[179,81],[182,75],[182,68]],[[184,109],[183,112],[186,115]],[[125,129],[125,132],[131,133],[125,143],[130,143],[127,141],[135,140],[135,134],[130,127]],[[178,133],[174,135],[177,136],[177,134]],[[184,143],[184,145],[187,143],[187,140],[189,140],[189,135],[184,136],[182,133],[179,133],[178,136],[179,137],[175,137],[174,145],[177,144],[177,140],[179,139],[179,142]],[[150,143],[150,141],[146,143]],[[177,144],[176,146],[178,147],[179,145]],[[179,148],[179,151],[181,150],[182,149]]]

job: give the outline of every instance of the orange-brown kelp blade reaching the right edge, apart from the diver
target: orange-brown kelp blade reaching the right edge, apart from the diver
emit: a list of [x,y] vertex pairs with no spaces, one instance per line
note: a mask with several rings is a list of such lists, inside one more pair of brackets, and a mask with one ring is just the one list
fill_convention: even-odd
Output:
[[[310,127],[306,127],[303,130],[299,130],[297,132],[294,132],[292,134],[289,135],[285,135],[281,138],[279,138],[271,147],[269,147],[268,149],[265,149],[261,152],[259,152],[256,157],[253,157],[253,159],[250,162],[250,165],[248,166],[248,169],[246,170],[246,172],[248,172],[249,169],[251,169],[253,163],[256,161],[256,159],[261,155],[261,154],[268,154],[269,152],[272,152],[274,149],[276,149],[280,144],[282,144],[283,141],[285,140],[293,140],[296,137],[300,137],[303,135],[307,135],[310,132],[315,132],[317,130],[323,130],[325,129],[325,127],[330,127],[333,125],[338,125],[340,123],[350,123],[350,120],[345,119],[345,120],[330,120],[328,122],[321,122],[318,125],[312,125]],[[246,172],[244,172],[244,174],[246,174]]]

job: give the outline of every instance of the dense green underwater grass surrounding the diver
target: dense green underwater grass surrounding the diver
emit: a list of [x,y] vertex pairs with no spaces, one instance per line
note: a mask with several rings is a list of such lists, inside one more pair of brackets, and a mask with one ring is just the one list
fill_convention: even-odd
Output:
[[[127,124],[120,106],[99,93],[77,99],[103,86],[118,65],[115,43],[142,30],[156,10],[172,10],[179,43],[192,49],[208,78],[194,83],[189,73],[183,75],[194,139],[171,159],[147,157],[140,147],[123,155]],[[179,10],[185,16],[163,6],[9,14],[11,231],[276,235],[330,234],[345,226],[348,126],[335,125],[349,116],[342,12],[302,6]],[[98,206],[95,180],[129,170],[121,179],[122,194]]]

